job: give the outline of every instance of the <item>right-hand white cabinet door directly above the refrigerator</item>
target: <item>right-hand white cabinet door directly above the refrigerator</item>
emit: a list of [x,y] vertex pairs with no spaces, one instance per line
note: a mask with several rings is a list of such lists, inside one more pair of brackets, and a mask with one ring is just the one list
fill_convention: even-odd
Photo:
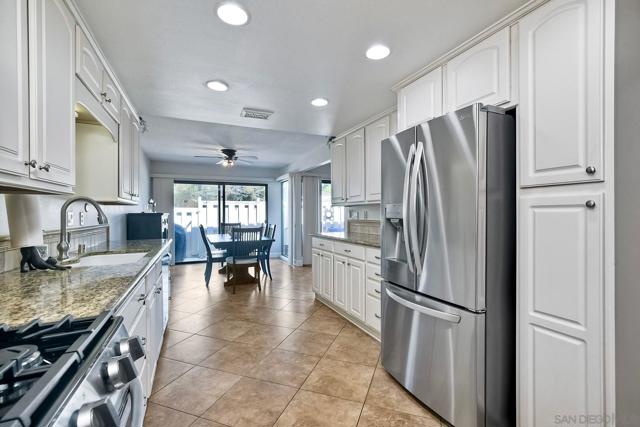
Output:
[[500,105],[511,100],[509,38],[507,27],[447,63],[447,111],[475,102]]

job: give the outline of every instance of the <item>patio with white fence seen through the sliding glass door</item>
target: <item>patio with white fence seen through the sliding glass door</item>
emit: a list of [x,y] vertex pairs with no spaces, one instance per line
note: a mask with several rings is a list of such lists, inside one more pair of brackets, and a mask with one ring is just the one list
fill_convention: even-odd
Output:
[[213,234],[221,223],[239,222],[243,227],[255,227],[267,222],[267,198],[266,184],[175,182],[176,263],[206,260],[200,225],[207,234]]

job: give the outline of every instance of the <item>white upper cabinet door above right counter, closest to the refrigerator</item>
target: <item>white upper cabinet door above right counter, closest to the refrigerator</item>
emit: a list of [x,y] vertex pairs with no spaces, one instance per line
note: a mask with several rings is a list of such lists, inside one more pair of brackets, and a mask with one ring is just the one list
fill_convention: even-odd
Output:
[[371,123],[365,128],[365,189],[367,202],[379,202],[381,191],[382,159],[380,147],[382,140],[389,137],[389,116]]

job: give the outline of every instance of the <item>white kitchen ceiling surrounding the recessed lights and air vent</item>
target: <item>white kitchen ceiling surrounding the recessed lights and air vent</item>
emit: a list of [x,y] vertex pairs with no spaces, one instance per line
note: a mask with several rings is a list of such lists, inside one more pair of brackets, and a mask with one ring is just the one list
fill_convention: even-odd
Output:
[[[201,129],[194,124],[199,121],[335,135],[393,106],[394,83],[527,2],[237,1],[251,15],[243,27],[217,18],[219,0],[76,3],[143,116],[191,120],[193,133]],[[373,43],[388,45],[391,56],[366,59]],[[211,79],[231,89],[212,92],[204,86]],[[315,97],[328,98],[329,106],[312,107]],[[275,114],[268,121],[242,118],[245,106]],[[242,143],[253,150],[265,144],[263,137],[256,132]],[[216,139],[226,144],[222,136]],[[290,147],[278,139],[271,139],[276,151]],[[157,156],[174,153],[175,146],[165,148]]]

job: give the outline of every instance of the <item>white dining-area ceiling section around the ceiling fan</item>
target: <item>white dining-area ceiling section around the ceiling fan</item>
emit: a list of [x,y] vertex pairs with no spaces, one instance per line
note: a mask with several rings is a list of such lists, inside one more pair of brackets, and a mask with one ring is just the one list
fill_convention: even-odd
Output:
[[326,144],[327,137],[252,129],[215,123],[145,116],[148,130],[142,147],[152,160],[213,164],[215,159],[194,156],[218,154],[220,147],[238,150],[238,155],[257,156],[253,166],[282,168],[314,148]]

